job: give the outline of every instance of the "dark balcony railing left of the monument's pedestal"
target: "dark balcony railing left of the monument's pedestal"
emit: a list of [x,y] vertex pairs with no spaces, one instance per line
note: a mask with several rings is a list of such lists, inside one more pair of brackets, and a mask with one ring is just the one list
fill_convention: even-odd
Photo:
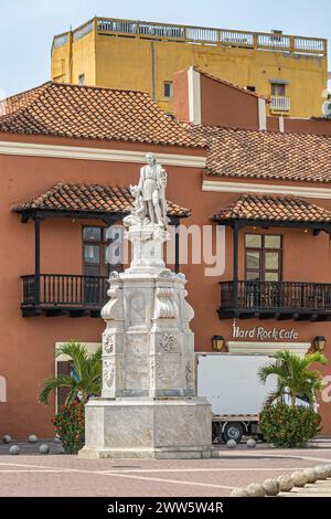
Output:
[[70,315],[99,317],[107,299],[106,276],[40,274],[22,276],[23,317]]

